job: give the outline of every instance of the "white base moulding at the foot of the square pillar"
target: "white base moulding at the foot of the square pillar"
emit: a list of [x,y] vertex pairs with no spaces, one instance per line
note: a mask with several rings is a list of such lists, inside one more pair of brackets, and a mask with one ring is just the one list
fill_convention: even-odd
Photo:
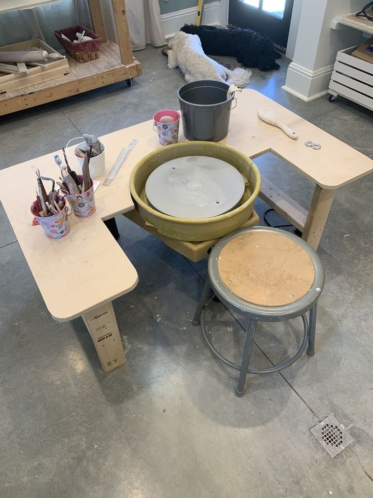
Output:
[[291,62],[287,70],[286,82],[282,89],[305,102],[310,102],[328,93],[333,67],[334,64],[331,64],[312,71],[296,62]]

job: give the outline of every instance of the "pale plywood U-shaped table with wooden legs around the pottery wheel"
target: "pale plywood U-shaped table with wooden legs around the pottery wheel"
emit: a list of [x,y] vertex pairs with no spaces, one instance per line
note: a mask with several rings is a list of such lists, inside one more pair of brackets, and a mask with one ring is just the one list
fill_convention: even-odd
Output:
[[[257,111],[262,107],[273,109],[297,132],[299,139],[291,140],[278,128],[260,121]],[[96,190],[96,213],[86,219],[71,215],[71,231],[61,240],[50,240],[40,226],[32,226],[29,211],[36,186],[31,165],[38,167],[43,176],[57,178],[54,153],[0,171],[0,200],[49,312],[59,321],[83,317],[106,372],[125,361],[111,302],[136,286],[137,273],[103,220],[134,209],[129,190],[131,171],[159,143],[153,120],[101,137],[106,146],[106,173],[122,148],[134,138],[139,142],[116,179],[110,186],[101,184]],[[320,143],[322,148],[306,147],[305,141],[309,139]],[[185,141],[181,132],[179,140]],[[259,194],[303,231],[303,239],[315,249],[335,191],[373,171],[373,161],[368,157],[254,90],[244,90],[238,95],[228,137],[222,142],[251,158],[273,152],[315,184],[309,211],[263,178]],[[105,175],[101,180],[104,178]],[[64,298],[56,299],[51,282],[56,275],[65,275],[67,269],[73,278],[59,279],[59,295]]]

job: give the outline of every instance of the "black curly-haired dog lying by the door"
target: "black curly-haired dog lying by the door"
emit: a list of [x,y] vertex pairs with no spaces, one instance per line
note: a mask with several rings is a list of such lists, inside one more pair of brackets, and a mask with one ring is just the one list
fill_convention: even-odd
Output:
[[279,59],[281,54],[273,48],[272,40],[251,29],[184,24],[180,31],[198,35],[207,55],[233,55],[246,68],[258,68],[260,71],[280,68],[275,59]]

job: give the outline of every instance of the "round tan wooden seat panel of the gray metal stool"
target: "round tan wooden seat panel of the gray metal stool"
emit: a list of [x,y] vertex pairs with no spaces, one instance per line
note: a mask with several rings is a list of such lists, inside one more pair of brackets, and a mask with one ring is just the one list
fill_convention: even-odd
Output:
[[283,233],[271,231],[237,235],[222,247],[217,268],[231,292],[260,306],[294,303],[315,280],[308,252]]

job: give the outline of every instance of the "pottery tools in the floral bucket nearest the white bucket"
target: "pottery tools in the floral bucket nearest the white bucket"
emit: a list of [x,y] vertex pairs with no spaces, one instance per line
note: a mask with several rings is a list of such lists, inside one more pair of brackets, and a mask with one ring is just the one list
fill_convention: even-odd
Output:
[[69,164],[67,162],[65,149],[62,149],[63,157],[65,159],[65,165],[62,164],[62,161],[58,154],[54,156],[54,160],[61,172],[61,176],[59,179],[60,182],[57,182],[58,186],[70,195],[79,195],[82,192],[86,192],[92,187],[92,180],[89,173],[89,160],[92,154],[92,145],[90,146],[88,152],[84,152],[84,162],[82,166],[83,172],[83,180],[79,178],[79,176],[71,170]]

